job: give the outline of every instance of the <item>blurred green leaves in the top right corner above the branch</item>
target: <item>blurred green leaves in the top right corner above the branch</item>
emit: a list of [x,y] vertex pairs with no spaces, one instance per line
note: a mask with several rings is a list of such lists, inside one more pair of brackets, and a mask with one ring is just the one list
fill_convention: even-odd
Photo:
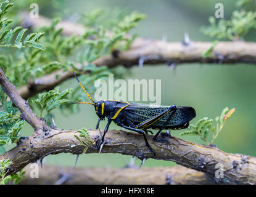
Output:
[[[237,1],[237,6],[246,5],[252,0]],[[204,34],[217,39],[229,39],[231,41],[244,39],[249,31],[256,29],[256,11],[234,10],[231,19],[225,20],[221,18],[216,22],[215,17],[209,18],[210,26],[203,27]]]

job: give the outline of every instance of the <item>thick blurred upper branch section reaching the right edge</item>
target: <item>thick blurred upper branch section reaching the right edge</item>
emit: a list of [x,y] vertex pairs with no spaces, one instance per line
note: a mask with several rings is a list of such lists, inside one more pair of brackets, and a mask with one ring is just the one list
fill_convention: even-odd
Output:
[[163,42],[146,39],[135,39],[131,48],[118,53],[115,58],[105,55],[97,59],[97,66],[107,65],[110,68],[117,65],[133,66],[144,60],[147,65],[161,63],[256,63],[255,42],[218,42],[213,49],[213,56],[202,57],[202,54],[212,46],[212,42],[191,42],[183,46],[181,42]]

